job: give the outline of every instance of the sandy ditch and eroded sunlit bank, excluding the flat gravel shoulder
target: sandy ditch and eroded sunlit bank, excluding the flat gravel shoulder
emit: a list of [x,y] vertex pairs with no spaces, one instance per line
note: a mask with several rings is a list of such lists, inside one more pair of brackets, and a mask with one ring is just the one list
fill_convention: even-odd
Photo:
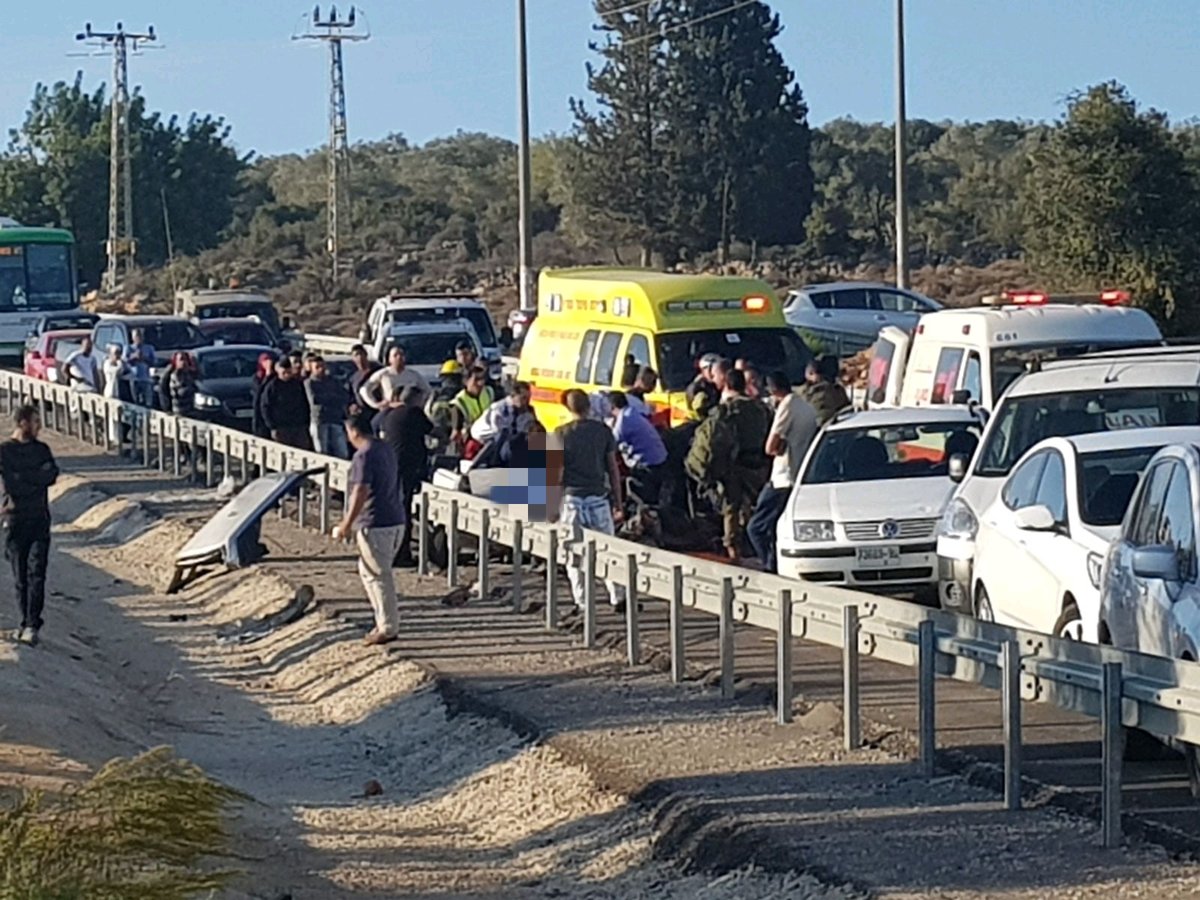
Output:
[[[247,875],[230,896],[848,896],[806,876],[680,876],[587,770],[448,716],[420,668],[319,611],[220,646],[216,625],[277,610],[292,587],[251,570],[163,596],[187,527],[78,479],[56,493],[43,644],[0,644],[4,790],[54,790],[172,744],[253,798],[234,822]],[[371,781],[382,792],[365,797]]]

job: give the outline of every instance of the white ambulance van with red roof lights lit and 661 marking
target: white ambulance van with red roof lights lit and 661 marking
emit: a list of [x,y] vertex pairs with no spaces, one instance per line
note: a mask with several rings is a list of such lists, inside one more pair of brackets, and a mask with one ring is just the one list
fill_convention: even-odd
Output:
[[985,298],[985,306],[920,317],[912,334],[880,332],[868,374],[869,407],[965,403],[991,409],[1031,360],[1160,346],[1163,335],[1124,292]]

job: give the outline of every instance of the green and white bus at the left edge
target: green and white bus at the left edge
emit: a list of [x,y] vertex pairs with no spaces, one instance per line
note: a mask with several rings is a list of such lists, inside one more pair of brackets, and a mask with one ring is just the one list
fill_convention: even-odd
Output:
[[0,216],[0,356],[19,358],[48,312],[79,308],[74,238]]

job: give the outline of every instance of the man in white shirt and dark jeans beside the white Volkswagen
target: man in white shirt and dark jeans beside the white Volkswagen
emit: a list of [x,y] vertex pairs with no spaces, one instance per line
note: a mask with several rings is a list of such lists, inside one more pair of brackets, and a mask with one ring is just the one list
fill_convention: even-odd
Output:
[[773,572],[776,570],[775,526],[784,515],[800,463],[820,426],[812,404],[792,390],[786,373],[772,372],[767,376],[767,390],[775,406],[775,419],[764,448],[767,455],[773,457],[770,480],[758,493],[754,515],[746,524],[746,536],[763,569]]

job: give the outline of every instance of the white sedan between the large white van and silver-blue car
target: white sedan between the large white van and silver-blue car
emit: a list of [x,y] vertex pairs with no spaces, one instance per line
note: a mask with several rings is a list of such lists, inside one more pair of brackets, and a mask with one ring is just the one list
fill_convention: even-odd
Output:
[[1200,427],[1049,438],[1030,450],[979,520],[976,616],[1097,641],[1109,544],[1150,457],[1183,440],[1200,442]]

